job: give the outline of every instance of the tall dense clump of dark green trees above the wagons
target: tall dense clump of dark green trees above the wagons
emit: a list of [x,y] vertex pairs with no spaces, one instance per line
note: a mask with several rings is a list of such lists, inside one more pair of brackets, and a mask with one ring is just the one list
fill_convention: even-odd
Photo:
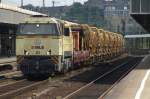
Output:
[[65,20],[83,24],[103,26],[103,10],[98,7],[89,7],[81,3],[74,3],[64,16]]

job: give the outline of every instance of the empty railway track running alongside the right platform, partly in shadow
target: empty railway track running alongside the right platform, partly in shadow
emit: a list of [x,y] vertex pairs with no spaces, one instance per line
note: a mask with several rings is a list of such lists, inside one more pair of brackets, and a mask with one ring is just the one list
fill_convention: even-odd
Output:
[[63,99],[103,99],[122,78],[136,67],[139,61],[140,58],[137,58],[132,62],[124,63],[68,94]]

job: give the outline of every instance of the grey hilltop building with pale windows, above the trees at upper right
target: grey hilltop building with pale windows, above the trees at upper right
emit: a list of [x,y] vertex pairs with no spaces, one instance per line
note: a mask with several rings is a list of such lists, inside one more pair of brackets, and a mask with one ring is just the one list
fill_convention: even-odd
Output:
[[88,0],[85,4],[104,10],[105,16],[128,16],[130,0]]

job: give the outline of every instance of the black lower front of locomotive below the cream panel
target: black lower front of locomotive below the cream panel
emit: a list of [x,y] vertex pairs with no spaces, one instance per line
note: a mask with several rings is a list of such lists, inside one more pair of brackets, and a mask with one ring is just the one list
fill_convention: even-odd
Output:
[[53,73],[59,63],[58,56],[32,56],[24,57],[20,69],[24,74]]

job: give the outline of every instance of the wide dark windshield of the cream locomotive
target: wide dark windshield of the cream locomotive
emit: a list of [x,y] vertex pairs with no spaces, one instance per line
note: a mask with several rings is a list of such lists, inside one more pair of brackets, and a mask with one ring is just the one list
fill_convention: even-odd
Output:
[[56,24],[20,24],[18,34],[49,34],[59,35]]

